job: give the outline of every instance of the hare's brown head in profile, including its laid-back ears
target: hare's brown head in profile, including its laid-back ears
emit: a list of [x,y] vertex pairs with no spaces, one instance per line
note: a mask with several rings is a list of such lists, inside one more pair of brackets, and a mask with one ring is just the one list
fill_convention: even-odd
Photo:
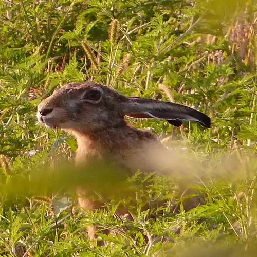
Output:
[[180,104],[126,97],[106,86],[93,83],[69,83],[43,100],[38,120],[51,128],[92,133],[108,127],[126,125],[124,116],[161,118],[180,126],[182,120],[197,121],[210,127],[205,114]]

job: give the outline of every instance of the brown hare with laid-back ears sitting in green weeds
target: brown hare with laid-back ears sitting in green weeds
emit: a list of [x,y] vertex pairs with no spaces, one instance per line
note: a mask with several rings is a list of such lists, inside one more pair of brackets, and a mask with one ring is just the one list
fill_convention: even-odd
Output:
[[[38,120],[47,127],[71,132],[77,139],[77,165],[91,158],[111,160],[133,172],[138,169],[153,172],[168,164],[165,150],[154,134],[128,125],[124,116],[161,118],[174,126],[183,120],[196,121],[210,127],[205,114],[187,106],[171,102],[126,97],[106,86],[93,83],[69,83],[43,100],[38,106]],[[142,154],[143,153],[143,154]],[[86,189],[78,189],[83,194]],[[79,204],[87,210],[101,207],[99,203],[79,197]],[[199,204],[199,202],[198,202]],[[196,205],[189,206],[187,209]],[[185,208],[186,209],[186,208]],[[119,213],[119,212],[118,212]],[[125,211],[121,208],[120,215]],[[88,236],[95,238],[95,227],[88,227]]]

